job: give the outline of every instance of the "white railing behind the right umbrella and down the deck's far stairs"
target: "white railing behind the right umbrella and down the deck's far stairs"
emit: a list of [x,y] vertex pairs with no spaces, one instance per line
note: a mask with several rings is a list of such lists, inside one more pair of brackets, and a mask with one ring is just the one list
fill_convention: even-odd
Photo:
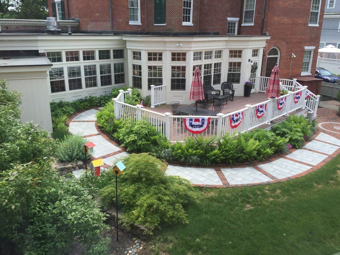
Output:
[[[269,77],[263,77],[260,76],[258,80],[258,90],[259,92],[266,92],[268,82],[269,82]],[[287,79],[280,79],[280,87],[281,89],[288,90],[288,91],[296,91],[296,87],[303,88],[300,83],[296,81],[296,79],[293,80],[287,80]],[[306,94],[305,95],[305,103],[306,107],[309,109],[309,111],[312,111],[314,116],[317,115],[318,112],[318,106],[319,106],[319,100],[320,100],[320,95],[314,95],[312,92],[310,92],[308,89],[306,89]]]

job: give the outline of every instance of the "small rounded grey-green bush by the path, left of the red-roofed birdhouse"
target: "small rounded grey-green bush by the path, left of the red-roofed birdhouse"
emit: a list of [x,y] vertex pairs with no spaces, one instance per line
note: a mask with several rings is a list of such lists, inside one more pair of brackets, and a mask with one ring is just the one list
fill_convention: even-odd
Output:
[[84,159],[83,145],[87,142],[81,135],[67,135],[56,148],[55,155],[62,162]]

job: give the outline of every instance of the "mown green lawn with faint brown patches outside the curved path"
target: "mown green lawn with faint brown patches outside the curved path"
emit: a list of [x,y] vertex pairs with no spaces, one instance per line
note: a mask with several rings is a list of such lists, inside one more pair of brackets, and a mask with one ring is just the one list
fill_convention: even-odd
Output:
[[189,224],[155,233],[155,253],[334,254],[340,251],[340,155],[296,180],[208,189]]

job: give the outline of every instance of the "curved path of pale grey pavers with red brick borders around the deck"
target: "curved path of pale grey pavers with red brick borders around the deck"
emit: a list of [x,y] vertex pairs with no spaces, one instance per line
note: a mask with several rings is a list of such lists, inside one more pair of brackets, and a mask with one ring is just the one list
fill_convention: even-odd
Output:
[[[67,125],[71,133],[80,133],[95,143],[91,159],[101,158],[104,167],[108,167],[129,153],[101,131],[96,123],[99,109],[77,113],[69,119]],[[244,166],[193,167],[169,164],[166,173],[188,179],[193,186],[220,188],[270,184],[301,177],[319,169],[340,153],[340,119],[336,111],[329,114],[330,111],[333,110],[319,109],[319,129],[303,144],[302,149],[291,149],[286,154]]]

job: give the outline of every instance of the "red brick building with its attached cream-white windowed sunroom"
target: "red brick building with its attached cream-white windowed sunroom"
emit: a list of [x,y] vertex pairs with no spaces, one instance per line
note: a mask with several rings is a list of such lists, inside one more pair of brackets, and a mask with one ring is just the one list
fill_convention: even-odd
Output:
[[195,66],[205,85],[229,81],[243,96],[244,82],[254,82],[256,92],[258,77],[268,77],[276,63],[281,78],[314,76],[324,6],[325,0],[48,0],[61,33],[47,34],[43,20],[0,20],[0,53],[47,54],[50,100],[123,85],[145,96],[151,84],[167,84],[167,103],[189,103]]

